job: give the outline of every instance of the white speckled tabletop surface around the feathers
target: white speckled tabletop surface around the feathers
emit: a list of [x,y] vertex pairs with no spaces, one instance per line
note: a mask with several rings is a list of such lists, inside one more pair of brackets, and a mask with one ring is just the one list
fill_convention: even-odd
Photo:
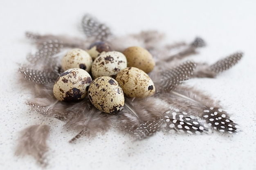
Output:
[[[168,2],[168,3],[167,3]],[[0,2],[0,169],[38,169],[31,157],[16,157],[18,131],[32,124],[50,124],[47,169],[256,169],[256,2],[164,0],[1,0]],[[234,115],[242,132],[234,136],[166,135],[133,141],[114,130],[69,144],[75,133],[54,118],[33,112],[23,103],[30,94],[16,80],[18,63],[31,51],[25,31],[81,36],[81,16],[92,13],[117,35],[157,29],[168,40],[204,38],[196,61],[213,63],[237,50],[241,62],[216,79],[188,83],[207,91]]]

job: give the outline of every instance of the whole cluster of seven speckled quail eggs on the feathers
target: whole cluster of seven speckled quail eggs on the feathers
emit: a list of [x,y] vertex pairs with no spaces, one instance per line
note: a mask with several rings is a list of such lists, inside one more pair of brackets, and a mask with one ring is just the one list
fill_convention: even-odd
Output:
[[155,62],[144,48],[132,46],[122,53],[112,51],[105,42],[95,42],[88,50],[71,49],[62,58],[64,72],[53,87],[56,99],[76,102],[86,96],[105,113],[124,107],[124,96],[148,97],[155,93],[147,75]]

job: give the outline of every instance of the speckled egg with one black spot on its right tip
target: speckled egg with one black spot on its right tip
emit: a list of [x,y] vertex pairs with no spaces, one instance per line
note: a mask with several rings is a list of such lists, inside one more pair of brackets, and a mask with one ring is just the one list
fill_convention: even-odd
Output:
[[148,97],[155,93],[155,85],[150,77],[136,67],[127,67],[117,73],[117,82],[128,97]]

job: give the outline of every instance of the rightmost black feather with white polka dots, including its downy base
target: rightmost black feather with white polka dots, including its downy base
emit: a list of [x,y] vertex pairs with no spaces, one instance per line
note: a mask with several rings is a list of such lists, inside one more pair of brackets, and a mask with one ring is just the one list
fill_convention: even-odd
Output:
[[[220,104],[210,97],[203,95],[202,92],[195,90],[191,90],[193,88],[180,87],[173,91],[173,100],[179,100],[180,106],[182,108],[188,108],[188,110],[193,109],[194,115],[204,119],[209,126],[211,126],[214,130],[218,130],[220,132],[229,132],[236,133],[236,123],[232,121]],[[192,111],[193,111],[192,110]]]

